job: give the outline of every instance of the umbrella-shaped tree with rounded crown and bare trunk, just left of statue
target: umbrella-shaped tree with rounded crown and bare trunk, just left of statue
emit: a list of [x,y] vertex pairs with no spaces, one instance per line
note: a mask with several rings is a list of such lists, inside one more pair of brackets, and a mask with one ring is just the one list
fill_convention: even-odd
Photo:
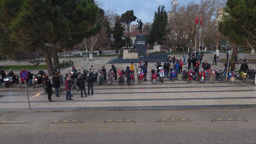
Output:
[[[124,23],[127,26],[128,29],[128,37],[130,38],[130,25],[132,22],[135,22],[137,19],[136,16],[134,16],[133,10],[128,10],[124,14],[121,15],[121,22]],[[128,45],[129,47],[129,45]]]

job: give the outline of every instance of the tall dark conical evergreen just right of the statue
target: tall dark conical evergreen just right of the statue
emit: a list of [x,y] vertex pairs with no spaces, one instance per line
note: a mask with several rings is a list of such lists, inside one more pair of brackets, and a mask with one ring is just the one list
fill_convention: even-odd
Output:
[[158,11],[155,12],[154,22],[152,24],[151,31],[148,36],[148,42],[153,44],[157,42],[162,45],[166,36],[166,26],[167,26],[167,12],[165,10],[164,5],[158,7]]

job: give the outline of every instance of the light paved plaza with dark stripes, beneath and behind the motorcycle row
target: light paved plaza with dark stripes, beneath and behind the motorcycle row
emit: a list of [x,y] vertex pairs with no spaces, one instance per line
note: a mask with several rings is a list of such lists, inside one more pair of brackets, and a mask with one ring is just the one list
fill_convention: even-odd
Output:
[[[220,53],[220,57],[225,57],[225,53]],[[203,61],[212,63],[214,54],[205,54]],[[240,54],[242,55],[242,54]],[[171,55],[172,56],[172,55]],[[175,55],[181,59],[182,55]],[[246,54],[244,54],[246,56]],[[247,55],[248,56],[248,55]],[[102,66],[110,69],[111,64],[106,63],[115,57],[95,57],[93,61],[94,70],[98,71]],[[240,57],[241,58],[241,57]],[[68,58],[74,61],[76,69],[89,69],[92,61],[87,65],[84,58]],[[62,59],[60,59],[62,61]],[[163,63],[163,62],[162,62]],[[127,64],[115,64],[117,69],[126,69]],[[255,64],[249,65],[250,69],[256,69]],[[138,63],[135,64],[136,73],[138,73]],[[187,68],[187,65],[184,65]],[[183,68],[183,69],[184,69]],[[212,69],[222,69],[223,63],[212,65]],[[239,69],[240,65],[236,65]],[[62,75],[68,73],[70,68],[61,70]],[[155,63],[149,63],[148,69],[156,69]],[[20,71],[14,71],[19,73]],[[37,71],[32,71],[36,73]],[[150,74],[148,74],[148,80]],[[126,82],[125,82],[126,84]],[[122,109],[172,109],[172,108],[225,108],[225,107],[256,107],[256,87],[254,80],[248,79],[246,83],[237,80],[235,83],[199,83],[192,81],[187,83],[179,75],[176,81],[165,79],[164,83],[158,81],[153,85],[151,81],[143,81],[138,85],[136,80],[132,87],[127,85],[118,85],[114,81],[113,85],[94,84],[94,95],[86,98],[80,98],[80,91],[71,90],[74,97],[73,102],[66,102],[66,92],[64,85],[60,88],[60,97],[52,99],[55,103],[48,103],[47,95],[42,91],[42,87],[37,85],[35,89],[28,87],[30,105],[32,110],[122,110]],[[86,87],[87,89],[87,87]],[[19,89],[19,85],[13,85],[10,88],[0,86],[0,93],[4,97],[0,98],[1,111],[26,111],[28,103],[25,88]]]

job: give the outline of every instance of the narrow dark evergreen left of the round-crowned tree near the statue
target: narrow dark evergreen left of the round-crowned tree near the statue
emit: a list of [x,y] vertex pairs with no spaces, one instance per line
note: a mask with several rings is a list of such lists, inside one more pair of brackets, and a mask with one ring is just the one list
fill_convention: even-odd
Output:
[[112,44],[112,47],[114,47],[114,49],[120,49],[122,46],[124,46],[124,40],[122,39],[124,34],[124,26],[122,26],[121,20],[118,16],[116,16],[116,22],[112,34],[114,37],[114,44]]

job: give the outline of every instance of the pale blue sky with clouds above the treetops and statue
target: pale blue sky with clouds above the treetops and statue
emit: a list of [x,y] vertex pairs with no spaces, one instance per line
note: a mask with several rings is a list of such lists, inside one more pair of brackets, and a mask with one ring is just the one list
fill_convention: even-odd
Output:
[[[189,2],[199,2],[200,0],[176,0],[178,4],[184,5]],[[164,5],[166,11],[171,10],[171,0],[98,0],[102,3],[103,9],[115,9],[121,16],[127,10],[134,10],[134,15],[142,22],[153,22],[154,12],[159,5]],[[134,23],[135,24],[135,23]]]

